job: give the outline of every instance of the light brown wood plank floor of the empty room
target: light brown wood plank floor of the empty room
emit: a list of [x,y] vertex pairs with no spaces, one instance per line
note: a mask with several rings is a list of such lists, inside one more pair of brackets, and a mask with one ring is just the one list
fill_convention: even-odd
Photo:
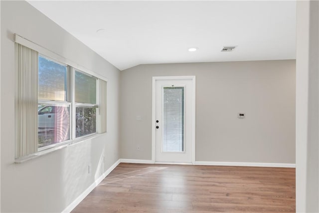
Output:
[[295,169],[121,163],[72,213],[296,212]]

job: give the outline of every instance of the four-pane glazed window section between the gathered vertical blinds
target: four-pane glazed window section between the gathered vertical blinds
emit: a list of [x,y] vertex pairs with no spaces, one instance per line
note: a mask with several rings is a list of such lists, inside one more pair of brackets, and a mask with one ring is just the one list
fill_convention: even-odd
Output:
[[[41,55],[38,63],[38,148],[72,139],[70,106],[75,107],[75,138],[96,133],[98,79]],[[74,86],[68,80],[73,75]]]

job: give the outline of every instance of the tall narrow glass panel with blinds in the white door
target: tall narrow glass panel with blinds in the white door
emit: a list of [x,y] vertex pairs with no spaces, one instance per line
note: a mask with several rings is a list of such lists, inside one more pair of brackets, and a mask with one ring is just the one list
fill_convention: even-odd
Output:
[[163,152],[184,151],[184,87],[163,88]]

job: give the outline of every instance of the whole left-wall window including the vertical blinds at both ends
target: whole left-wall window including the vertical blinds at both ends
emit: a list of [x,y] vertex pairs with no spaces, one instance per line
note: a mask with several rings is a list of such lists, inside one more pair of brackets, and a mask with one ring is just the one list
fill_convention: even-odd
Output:
[[17,159],[106,132],[106,81],[18,43],[16,58]]

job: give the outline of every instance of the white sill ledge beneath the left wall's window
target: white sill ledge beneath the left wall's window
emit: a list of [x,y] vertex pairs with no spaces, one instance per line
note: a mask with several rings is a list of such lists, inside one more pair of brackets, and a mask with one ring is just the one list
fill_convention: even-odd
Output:
[[84,142],[84,141],[86,141],[88,139],[97,138],[97,137],[100,137],[100,136],[103,136],[103,135],[106,135],[106,133],[96,133],[94,135],[89,135],[87,137],[83,136],[83,137],[80,137],[78,139],[65,142],[65,143],[63,143],[61,145],[58,145],[58,146],[55,146],[55,147],[51,147],[51,148],[48,148],[48,149],[44,149],[44,150],[38,151],[38,152],[36,152],[34,154],[30,154],[30,155],[24,156],[22,158],[17,158],[17,159],[14,160],[14,163],[21,164],[21,163],[29,161],[31,159],[47,155],[47,154],[52,153],[52,152],[54,152],[56,150],[60,150],[60,149],[66,148],[66,147],[69,147],[69,146],[74,145],[74,144],[82,143],[82,142]]

